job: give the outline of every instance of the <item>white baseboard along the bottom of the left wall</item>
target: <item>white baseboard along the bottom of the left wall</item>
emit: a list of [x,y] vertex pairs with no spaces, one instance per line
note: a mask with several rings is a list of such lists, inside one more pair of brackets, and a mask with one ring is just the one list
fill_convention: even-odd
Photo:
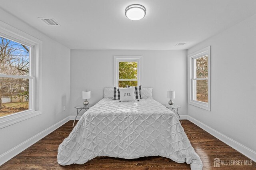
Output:
[[19,154],[20,152],[22,152],[23,150],[25,150],[26,148],[28,148],[31,145],[38,142],[38,140],[44,138],[46,135],[50,134],[51,132],[53,132],[57,128],[61,127],[62,125],[64,125],[68,121],[70,121],[70,117],[66,117],[65,119],[62,119],[58,123],[52,125],[51,127],[43,130],[42,132],[40,132],[40,133],[36,134],[35,136],[29,138],[28,140],[22,142],[21,144],[15,146],[14,148],[8,150],[7,152],[5,152],[3,154],[1,154],[0,155],[0,166],[2,164],[4,164],[5,162],[7,162],[8,160],[10,160],[11,158],[13,158],[14,156],[16,156],[17,154]]

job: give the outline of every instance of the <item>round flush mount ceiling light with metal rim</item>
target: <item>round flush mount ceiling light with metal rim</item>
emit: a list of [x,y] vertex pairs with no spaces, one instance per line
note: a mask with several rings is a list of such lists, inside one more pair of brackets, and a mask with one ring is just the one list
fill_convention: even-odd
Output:
[[146,15],[146,8],[139,4],[129,5],[125,9],[125,16],[130,20],[141,20]]

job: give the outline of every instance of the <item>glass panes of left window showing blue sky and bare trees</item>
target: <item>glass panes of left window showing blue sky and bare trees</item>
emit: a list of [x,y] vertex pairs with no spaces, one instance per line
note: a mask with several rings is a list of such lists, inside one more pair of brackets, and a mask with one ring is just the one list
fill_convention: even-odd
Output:
[[34,46],[0,36],[0,117],[33,109]]

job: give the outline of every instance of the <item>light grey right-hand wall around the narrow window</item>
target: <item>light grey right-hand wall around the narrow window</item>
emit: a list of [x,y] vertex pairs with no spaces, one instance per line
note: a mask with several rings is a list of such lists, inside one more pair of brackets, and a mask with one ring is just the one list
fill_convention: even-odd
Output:
[[199,43],[211,45],[211,111],[188,105],[188,115],[256,151],[256,15]]

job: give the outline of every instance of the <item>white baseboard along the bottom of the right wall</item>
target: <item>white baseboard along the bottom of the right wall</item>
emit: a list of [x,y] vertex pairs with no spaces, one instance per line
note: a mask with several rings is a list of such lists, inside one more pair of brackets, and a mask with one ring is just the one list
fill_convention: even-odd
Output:
[[218,132],[217,130],[215,130],[211,127],[208,127],[204,123],[194,119],[193,117],[191,117],[189,115],[187,115],[187,118],[190,122],[194,123],[195,125],[197,125],[198,127],[202,128],[202,129],[204,129],[206,132],[212,134],[212,136],[218,138],[222,142],[226,143],[227,145],[231,146],[238,152],[244,154],[245,156],[247,156],[248,158],[250,158],[251,160],[256,162],[256,152],[254,150],[251,150],[250,148],[240,144],[239,142],[236,142],[232,138],[229,138],[228,136]]

